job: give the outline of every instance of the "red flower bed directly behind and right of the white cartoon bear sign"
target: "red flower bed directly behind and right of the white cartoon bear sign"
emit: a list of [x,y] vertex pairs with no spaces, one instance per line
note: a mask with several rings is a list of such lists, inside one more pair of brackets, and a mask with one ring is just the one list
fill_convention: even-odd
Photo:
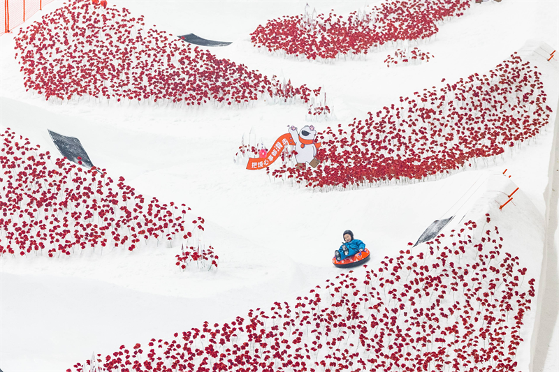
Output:
[[369,112],[364,122],[354,119],[349,133],[342,124],[328,127],[317,134],[317,168],[282,166],[272,174],[310,187],[346,188],[423,179],[503,154],[549,122],[539,75],[515,52],[488,75],[424,89]]

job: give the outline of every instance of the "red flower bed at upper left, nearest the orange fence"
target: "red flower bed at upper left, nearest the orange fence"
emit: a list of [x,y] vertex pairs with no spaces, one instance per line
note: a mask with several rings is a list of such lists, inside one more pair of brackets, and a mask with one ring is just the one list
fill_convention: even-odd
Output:
[[71,1],[20,29],[16,58],[27,90],[61,100],[94,97],[184,105],[245,104],[267,94],[308,101],[305,85],[286,87],[256,70],[165,31],[144,31],[129,10]]

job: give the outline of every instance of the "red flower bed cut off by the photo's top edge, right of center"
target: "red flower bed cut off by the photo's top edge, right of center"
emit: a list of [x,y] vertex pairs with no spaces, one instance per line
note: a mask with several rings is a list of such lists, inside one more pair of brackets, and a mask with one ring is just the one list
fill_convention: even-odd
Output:
[[283,51],[307,59],[367,54],[390,41],[421,40],[439,31],[437,22],[459,17],[469,0],[389,0],[369,12],[350,13],[347,20],[333,12],[286,16],[259,25],[251,34],[255,47]]

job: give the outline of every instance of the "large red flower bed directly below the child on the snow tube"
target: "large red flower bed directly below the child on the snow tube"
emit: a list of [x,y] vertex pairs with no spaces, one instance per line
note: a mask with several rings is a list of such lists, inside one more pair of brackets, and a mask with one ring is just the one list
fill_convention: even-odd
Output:
[[340,274],[296,304],[122,345],[68,372],[515,371],[535,280],[524,281],[527,270],[483,218],[416,255]]

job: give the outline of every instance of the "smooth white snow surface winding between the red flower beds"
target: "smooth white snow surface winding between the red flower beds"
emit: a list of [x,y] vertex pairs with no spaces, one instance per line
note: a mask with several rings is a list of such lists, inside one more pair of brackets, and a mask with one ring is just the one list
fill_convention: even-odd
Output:
[[[523,342],[516,350],[514,361],[518,364],[513,370],[559,371],[557,184],[553,189],[559,165],[552,151],[558,143],[553,144],[553,136],[559,133],[558,71],[556,59],[548,62],[535,52],[543,43],[552,49],[559,45],[558,2],[472,4],[463,17],[440,24],[436,38],[419,44],[423,52],[434,56],[428,63],[395,68],[387,68],[384,60],[402,45],[386,45],[366,59],[329,63],[284,58],[252,46],[249,33],[259,24],[303,13],[304,1],[115,1],[109,3],[112,5],[126,7],[135,16],[145,15],[147,25],[156,24],[157,29],[173,35],[195,33],[210,40],[232,40],[231,45],[212,47],[210,52],[264,75],[277,75],[280,81],[291,79],[294,86],[322,87],[335,116],[329,121],[312,121],[318,131],[337,124],[347,128],[354,118],[365,119],[367,112],[396,103],[400,96],[441,87],[443,78],[456,82],[460,77],[486,73],[513,52],[542,73],[546,104],[553,113],[550,124],[535,138],[507,149],[503,156],[472,162],[467,170],[418,183],[320,192],[294,186],[289,180],[274,181],[265,171],[248,171],[233,163],[242,135],[245,143],[263,142],[270,147],[286,133],[288,124],[298,128],[311,124],[305,120],[304,103],[282,105],[261,99],[247,107],[208,104],[187,108],[107,104],[87,98],[79,103],[47,102],[24,89],[20,66],[14,59],[13,38],[18,30],[5,34],[0,38],[1,132],[10,128],[29,138],[31,144],[40,144],[41,152],[55,155],[57,149],[47,129],[78,137],[94,165],[106,168],[113,179],[124,177],[126,184],[147,198],[187,204],[194,216],[205,218],[203,244],[215,248],[219,267],[198,269],[191,264],[180,271],[175,266],[179,240],[139,244],[134,251],[105,249],[102,255],[99,250],[59,258],[33,253],[25,257],[3,255],[2,371],[66,371],[76,362],[84,364],[92,354],[104,358],[120,345],[133,350],[136,343],[147,353],[150,339],[171,341],[175,332],[181,335],[193,328],[203,329],[205,321],[231,324],[238,316],[247,318],[249,309],[256,308],[273,315],[270,308],[275,302],[287,302],[294,308],[297,297],[308,297],[317,285],[326,302],[326,281],[337,285],[344,278],[340,274],[349,274],[349,270],[331,264],[344,230],[353,230],[372,252],[368,267],[351,273],[363,283],[365,271],[378,273],[386,256],[397,260],[400,251],[408,249],[406,258],[429,255],[429,246],[435,246],[436,251],[437,242],[414,248],[408,242],[416,241],[435,219],[449,216],[455,218],[442,230],[441,247],[461,239],[450,237],[451,230],[463,228],[467,221],[479,225],[474,240],[481,239],[486,223],[491,229],[497,226],[503,239],[498,259],[507,252],[518,257],[518,269],[526,268],[525,280],[515,274],[521,283],[517,290],[528,293],[528,282],[535,278],[533,297],[525,297],[533,301],[523,314],[519,332]],[[334,9],[340,15],[366,5],[359,1],[310,3],[319,13]],[[62,3],[55,1],[43,12],[60,6]],[[27,24],[41,15],[34,15]],[[500,209],[517,187],[513,200]],[[486,214],[491,222],[486,222]],[[0,241],[5,236],[2,232]],[[492,235],[495,238],[499,239]],[[468,247],[475,249],[472,246],[478,243],[476,240]],[[472,265],[478,256],[471,253],[458,254],[456,259]],[[404,280],[409,278],[403,277],[402,285],[395,285],[400,292],[405,288]],[[363,294],[372,290],[358,289]],[[377,290],[384,300],[388,292]],[[338,300],[340,297],[335,298]],[[444,301],[450,301],[450,295]],[[373,313],[367,308],[370,303],[358,306],[364,315]],[[400,322],[404,319],[405,315],[400,315],[398,325],[403,325]],[[514,320],[509,321],[514,325]],[[460,327],[460,334],[465,329]],[[290,342],[296,336],[290,335]],[[342,343],[352,343],[351,337]],[[305,343],[314,339],[304,338]],[[323,341],[320,357],[328,347],[326,338]],[[335,352],[335,348],[328,352]],[[317,353],[310,355],[314,358]]]

